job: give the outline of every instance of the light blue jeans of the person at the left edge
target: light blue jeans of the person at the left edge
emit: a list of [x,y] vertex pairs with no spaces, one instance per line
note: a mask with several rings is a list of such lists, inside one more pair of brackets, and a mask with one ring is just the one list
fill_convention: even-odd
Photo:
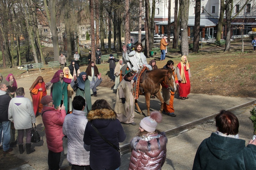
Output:
[[[0,122],[0,126],[3,127],[3,150],[7,151],[10,148],[10,140],[11,140],[11,122]],[[2,136],[1,136],[2,137]]]

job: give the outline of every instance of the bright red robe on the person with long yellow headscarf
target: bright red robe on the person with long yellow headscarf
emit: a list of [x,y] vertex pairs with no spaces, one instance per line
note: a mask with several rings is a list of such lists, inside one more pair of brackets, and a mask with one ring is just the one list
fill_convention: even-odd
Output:
[[[185,73],[185,78],[187,80],[186,83],[181,83],[181,81],[179,81],[179,91],[180,91],[180,97],[187,97],[187,95],[190,93],[190,80],[189,80],[189,74],[188,74],[188,70],[186,70],[186,65],[184,66],[184,64],[182,64],[184,67],[184,73]],[[177,67],[180,69],[181,72],[181,63],[179,63],[177,65]]]

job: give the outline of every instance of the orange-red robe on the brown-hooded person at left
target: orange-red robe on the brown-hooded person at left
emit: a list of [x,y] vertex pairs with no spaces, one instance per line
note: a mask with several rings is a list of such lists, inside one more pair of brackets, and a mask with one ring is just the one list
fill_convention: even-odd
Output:
[[[43,88],[43,91],[39,91],[38,89]],[[35,84],[33,90],[31,90],[32,93],[32,101],[33,101],[33,107],[34,107],[34,113],[37,114],[37,111],[41,113],[41,110],[43,108],[43,105],[41,104],[41,99],[43,96],[47,95],[47,91],[45,89],[45,83],[37,83]]]

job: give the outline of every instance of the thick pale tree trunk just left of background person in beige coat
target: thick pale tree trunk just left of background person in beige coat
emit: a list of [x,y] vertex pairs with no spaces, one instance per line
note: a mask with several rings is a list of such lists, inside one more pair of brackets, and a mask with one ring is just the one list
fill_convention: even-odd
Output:
[[48,19],[48,24],[52,32],[52,43],[53,43],[53,52],[54,52],[54,61],[59,61],[59,41],[58,41],[58,32],[56,28],[56,0],[48,0],[48,7],[46,0],[44,0],[45,12]]

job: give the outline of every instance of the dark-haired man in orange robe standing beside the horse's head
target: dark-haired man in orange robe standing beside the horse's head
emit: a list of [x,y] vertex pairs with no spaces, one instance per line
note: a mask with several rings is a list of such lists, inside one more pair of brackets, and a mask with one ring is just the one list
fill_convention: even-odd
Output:
[[[173,65],[174,65],[174,62],[172,60],[169,60],[169,61],[167,61],[167,64],[165,66],[163,66],[163,68],[172,70],[176,86],[179,86],[179,81],[177,79],[176,71],[175,71],[175,68],[173,67]],[[163,100],[165,101],[163,103],[163,109],[165,109],[165,112],[169,116],[175,117],[176,114],[174,114],[174,108],[173,108],[173,99],[174,99],[175,92],[168,90],[168,84],[166,84],[165,82],[162,82],[161,86],[162,86],[162,91],[163,91],[163,93],[162,93]]]

